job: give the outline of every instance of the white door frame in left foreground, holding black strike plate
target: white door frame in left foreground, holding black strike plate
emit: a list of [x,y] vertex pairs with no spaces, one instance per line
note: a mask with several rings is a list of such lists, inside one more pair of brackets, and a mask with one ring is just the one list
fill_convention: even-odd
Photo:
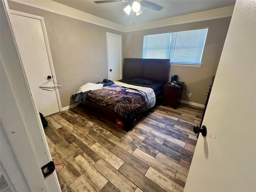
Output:
[[47,178],[42,174],[41,167],[52,157],[12,36],[9,15],[7,0],[0,1],[1,171],[13,192],[61,192],[56,171]]

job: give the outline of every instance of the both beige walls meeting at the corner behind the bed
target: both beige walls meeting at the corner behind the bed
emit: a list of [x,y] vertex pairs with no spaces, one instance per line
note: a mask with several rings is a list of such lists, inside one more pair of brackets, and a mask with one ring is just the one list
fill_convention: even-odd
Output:
[[144,35],[209,27],[202,66],[171,66],[170,70],[192,93],[188,98],[183,91],[182,100],[204,104],[230,23],[228,17],[124,33],[31,6],[8,4],[11,9],[44,17],[56,78],[63,84],[59,89],[62,107],[75,103],[70,96],[81,85],[108,78],[106,32],[122,35],[122,58],[142,58]]

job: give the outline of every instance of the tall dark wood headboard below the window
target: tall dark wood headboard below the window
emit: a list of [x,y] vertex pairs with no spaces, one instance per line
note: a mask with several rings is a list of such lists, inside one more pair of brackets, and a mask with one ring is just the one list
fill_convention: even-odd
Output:
[[170,59],[124,58],[123,78],[150,79],[165,84],[170,74]]

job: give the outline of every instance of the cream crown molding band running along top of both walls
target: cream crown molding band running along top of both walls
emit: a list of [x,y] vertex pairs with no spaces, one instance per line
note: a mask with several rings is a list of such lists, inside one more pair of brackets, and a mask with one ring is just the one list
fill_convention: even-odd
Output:
[[172,26],[178,24],[199,22],[205,20],[212,20],[218,18],[225,18],[232,16],[234,6],[227,6],[222,8],[216,8],[212,10],[206,10],[191,14],[185,14],[160,20],[154,20],[150,22],[143,22],[129,26],[123,26],[106,19],[82,12],[80,10],[68,7],[66,5],[51,1],[51,0],[9,0],[12,2],[17,2],[27,6],[39,8],[42,10],[50,11],[56,14],[61,14],[63,16],[68,16],[70,18],[82,20],[88,23],[92,23],[98,26],[103,26],[113,30],[118,30],[120,32],[132,32],[138,30],[146,30],[152,28],[159,28],[165,26]]

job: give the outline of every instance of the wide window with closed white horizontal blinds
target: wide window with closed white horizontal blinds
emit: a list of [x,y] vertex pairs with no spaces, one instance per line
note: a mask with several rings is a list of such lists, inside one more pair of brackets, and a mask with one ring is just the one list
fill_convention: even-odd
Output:
[[170,59],[175,64],[200,65],[208,28],[146,35],[142,58]]

